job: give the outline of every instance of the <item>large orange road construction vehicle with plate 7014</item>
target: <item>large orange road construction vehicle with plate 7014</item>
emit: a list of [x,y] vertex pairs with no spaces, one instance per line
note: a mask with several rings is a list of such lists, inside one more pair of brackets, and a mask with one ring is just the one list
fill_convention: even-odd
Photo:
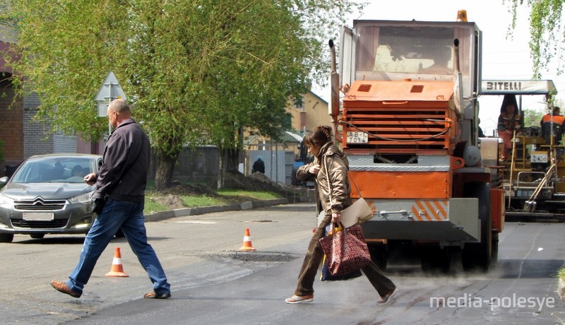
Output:
[[339,73],[330,42],[335,138],[359,189],[352,199],[374,210],[362,227],[381,268],[407,249],[424,270],[496,260],[504,188],[482,163],[498,149],[484,152],[477,137],[482,32],[459,16],[354,20],[342,30]]

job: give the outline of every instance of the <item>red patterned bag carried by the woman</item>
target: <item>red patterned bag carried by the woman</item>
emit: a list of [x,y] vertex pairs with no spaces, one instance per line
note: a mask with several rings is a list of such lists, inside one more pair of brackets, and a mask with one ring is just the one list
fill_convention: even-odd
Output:
[[328,268],[333,276],[343,276],[364,268],[371,261],[371,254],[365,242],[360,225],[352,225],[335,235],[320,239],[323,252],[326,253]]

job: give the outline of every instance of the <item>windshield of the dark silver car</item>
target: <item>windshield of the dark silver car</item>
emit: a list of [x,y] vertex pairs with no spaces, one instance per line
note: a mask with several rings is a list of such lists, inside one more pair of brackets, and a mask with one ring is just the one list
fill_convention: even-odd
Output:
[[12,183],[64,182],[83,183],[83,177],[93,172],[90,158],[56,157],[27,160],[13,175]]

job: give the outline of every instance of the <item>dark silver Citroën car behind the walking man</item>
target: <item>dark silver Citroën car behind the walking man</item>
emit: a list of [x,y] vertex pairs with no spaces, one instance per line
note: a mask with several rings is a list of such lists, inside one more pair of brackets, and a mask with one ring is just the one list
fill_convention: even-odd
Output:
[[83,180],[102,165],[102,155],[35,155],[12,177],[0,178],[0,242],[14,234],[85,234],[96,217],[90,195],[95,186]]

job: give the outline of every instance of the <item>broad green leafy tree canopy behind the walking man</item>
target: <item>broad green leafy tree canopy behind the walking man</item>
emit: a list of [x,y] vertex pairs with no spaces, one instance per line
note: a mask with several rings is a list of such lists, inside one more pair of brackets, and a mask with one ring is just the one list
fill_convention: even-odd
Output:
[[[186,146],[215,144],[235,168],[241,130],[278,138],[289,96],[328,72],[323,44],[357,5],[324,0],[6,0],[25,32],[4,58],[37,119],[97,141],[107,129],[93,98],[114,71],[168,187]],[[19,59],[17,59],[19,58]],[[224,170],[222,168],[222,170]]]

